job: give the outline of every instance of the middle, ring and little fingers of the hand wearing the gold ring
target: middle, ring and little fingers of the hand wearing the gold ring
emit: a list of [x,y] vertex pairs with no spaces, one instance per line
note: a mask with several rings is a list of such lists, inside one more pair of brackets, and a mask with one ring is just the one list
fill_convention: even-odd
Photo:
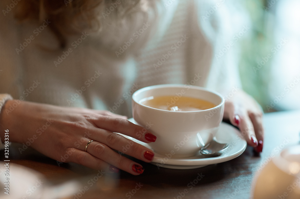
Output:
[[[144,168],[140,164],[122,156],[122,154],[126,153],[145,162],[151,162],[154,157],[153,151],[119,134],[106,131],[95,135],[96,133],[91,135],[90,139],[94,141],[88,145],[87,151],[84,151],[84,144],[80,145],[70,155],[70,162],[93,169],[109,169],[112,172],[118,171],[117,168],[119,168],[133,175],[139,175],[143,173]],[[95,140],[101,140],[101,143]],[[115,152],[113,149],[120,152]]]

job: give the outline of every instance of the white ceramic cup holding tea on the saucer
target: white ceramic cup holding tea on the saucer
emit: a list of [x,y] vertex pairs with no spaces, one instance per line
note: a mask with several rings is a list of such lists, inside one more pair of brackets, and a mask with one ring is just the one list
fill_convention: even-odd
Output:
[[[216,106],[199,111],[168,111],[145,106],[141,100],[157,96],[199,98]],[[172,102],[170,101],[172,104]],[[174,103],[174,102],[173,102]],[[224,114],[223,97],[212,90],[182,84],[163,84],[142,88],[132,95],[134,120],[156,137],[149,145],[158,154],[168,157],[191,157],[211,142]]]

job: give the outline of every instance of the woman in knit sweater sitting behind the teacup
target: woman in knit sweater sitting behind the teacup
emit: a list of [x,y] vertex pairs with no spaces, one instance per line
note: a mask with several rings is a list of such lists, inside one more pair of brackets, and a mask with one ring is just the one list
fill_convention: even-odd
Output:
[[[262,111],[240,89],[233,29],[220,2],[1,1],[2,142],[8,129],[9,141],[58,162],[138,175],[142,165],[113,151],[129,142],[113,132],[156,140],[126,120],[132,93],[187,83],[227,96],[224,118],[261,152]],[[226,42],[231,49],[215,56]],[[125,154],[151,162],[153,151],[130,144]]]

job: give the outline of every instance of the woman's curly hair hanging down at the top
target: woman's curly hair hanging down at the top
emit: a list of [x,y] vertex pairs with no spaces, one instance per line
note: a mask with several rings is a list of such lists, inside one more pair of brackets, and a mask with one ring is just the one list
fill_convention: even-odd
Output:
[[67,35],[99,30],[101,13],[111,4],[120,4],[116,12],[122,17],[139,2],[140,0],[26,0],[18,3],[15,18],[21,22],[42,22],[48,19],[51,21],[51,30],[59,40],[61,48],[64,48]]

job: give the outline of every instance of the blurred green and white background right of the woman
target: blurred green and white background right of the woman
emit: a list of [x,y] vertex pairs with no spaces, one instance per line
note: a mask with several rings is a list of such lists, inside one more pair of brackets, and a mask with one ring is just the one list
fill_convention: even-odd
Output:
[[265,112],[300,109],[300,1],[247,0],[251,34],[239,40],[243,88]]

